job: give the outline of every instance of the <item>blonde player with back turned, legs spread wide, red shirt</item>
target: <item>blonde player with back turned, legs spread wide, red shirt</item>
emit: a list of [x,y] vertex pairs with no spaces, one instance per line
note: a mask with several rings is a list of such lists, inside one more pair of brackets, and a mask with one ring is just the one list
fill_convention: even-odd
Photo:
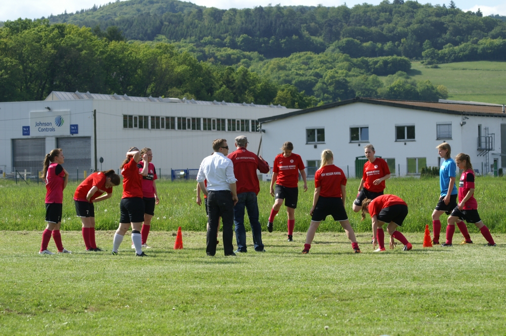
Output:
[[313,207],[309,214],[312,216],[311,224],[306,235],[303,254],[308,254],[315,232],[321,221],[331,215],[334,221],[338,221],[346,231],[348,239],[355,253],[361,253],[358,248],[355,232],[350,225],[345,210],[346,200],[346,176],[340,167],[334,164],[334,154],[330,149],[321,152],[320,169],[315,173],[315,194]]

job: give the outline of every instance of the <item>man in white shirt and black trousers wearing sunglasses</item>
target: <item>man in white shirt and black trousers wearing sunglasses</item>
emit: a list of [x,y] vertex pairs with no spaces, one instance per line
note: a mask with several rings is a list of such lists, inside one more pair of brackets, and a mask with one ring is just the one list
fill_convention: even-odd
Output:
[[[232,238],[234,205],[237,203],[237,189],[234,165],[227,158],[228,145],[225,139],[213,141],[215,153],[202,160],[197,174],[200,189],[207,196],[207,239],[205,252],[208,256],[216,254],[216,235],[220,217],[223,222],[223,249],[225,256],[235,256]],[[207,180],[207,187],[204,185]]]

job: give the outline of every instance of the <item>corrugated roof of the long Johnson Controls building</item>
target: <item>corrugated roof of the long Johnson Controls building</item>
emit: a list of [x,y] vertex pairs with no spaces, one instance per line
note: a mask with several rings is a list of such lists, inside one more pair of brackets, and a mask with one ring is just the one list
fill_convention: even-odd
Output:
[[194,100],[194,99],[179,99],[179,98],[153,98],[149,97],[132,97],[125,95],[104,95],[98,93],[82,93],[82,92],[62,92],[62,91],[53,91],[49,94],[46,100],[79,100],[79,99],[97,99],[97,100],[124,100],[124,101],[134,101],[134,102],[158,102],[158,103],[175,103],[175,104],[196,104],[196,105],[223,105],[223,106],[247,106],[247,107],[261,107],[261,108],[282,108],[286,109],[285,106],[281,105],[257,105],[254,103],[246,104],[246,103],[227,103],[225,101],[217,102],[208,102],[204,100]]

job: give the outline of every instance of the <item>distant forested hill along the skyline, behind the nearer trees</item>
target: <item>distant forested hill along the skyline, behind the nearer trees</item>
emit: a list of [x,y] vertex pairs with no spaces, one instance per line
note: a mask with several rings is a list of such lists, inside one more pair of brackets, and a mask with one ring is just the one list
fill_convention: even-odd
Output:
[[303,51],[321,53],[329,47],[352,57],[421,58],[423,51],[432,48],[506,39],[502,19],[484,17],[480,11],[463,12],[453,1],[448,6],[432,6],[403,0],[353,8],[259,6],[242,10],[176,0],[129,0],[49,17],[52,23],[98,25],[102,30],[117,26],[126,39],[154,40],[162,35],[197,47],[229,47],[267,58]]

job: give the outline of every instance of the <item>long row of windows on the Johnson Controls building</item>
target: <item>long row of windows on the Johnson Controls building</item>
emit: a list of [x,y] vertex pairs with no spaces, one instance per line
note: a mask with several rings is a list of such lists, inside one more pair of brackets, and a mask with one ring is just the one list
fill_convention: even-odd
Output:
[[124,129],[260,132],[254,119],[160,117],[123,114]]

